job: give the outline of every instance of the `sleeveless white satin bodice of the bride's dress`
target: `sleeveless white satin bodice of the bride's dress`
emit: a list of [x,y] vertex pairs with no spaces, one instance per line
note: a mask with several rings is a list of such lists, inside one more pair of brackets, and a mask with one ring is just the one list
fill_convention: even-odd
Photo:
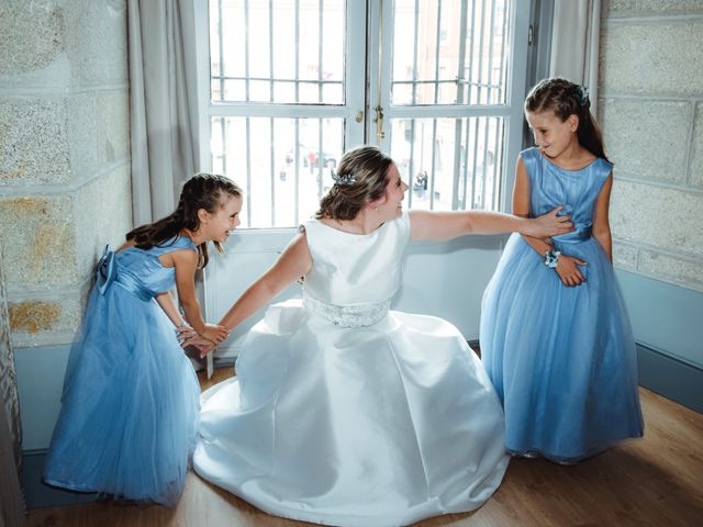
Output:
[[336,306],[376,304],[395,294],[410,239],[408,212],[369,234],[345,233],[319,220],[304,228],[312,256],[305,294]]

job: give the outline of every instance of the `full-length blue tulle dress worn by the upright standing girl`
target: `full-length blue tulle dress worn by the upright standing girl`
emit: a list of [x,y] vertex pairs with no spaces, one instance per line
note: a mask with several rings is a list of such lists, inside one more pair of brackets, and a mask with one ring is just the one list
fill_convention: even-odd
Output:
[[532,215],[563,205],[574,232],[554,246],[585,260],[569,288],[518,234],[509,239],[483,294],[481,356],[505,411],[515,455],[574,462],[643,435],[635,343],[613,267],[591,228],[612,165],[563,170],[537,148],[521,153]]

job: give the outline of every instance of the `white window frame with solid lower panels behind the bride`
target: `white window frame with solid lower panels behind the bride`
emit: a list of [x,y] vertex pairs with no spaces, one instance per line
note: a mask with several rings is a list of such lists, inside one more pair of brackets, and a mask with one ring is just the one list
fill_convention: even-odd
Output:
[[[358,9],[361,3],[360,0],[347,0],[347,9]],[[379,138],[377,136],[377,126],[373,123],[372,108],[379,103],[378,94],[386,93],[387,99],[381,99],[381,105],[384,108],[384,117],[390,123],[393,119],[432,119],[432,117],[472,117],[472,116],[501,116],[504,120],[504,134],[505,134],[505,147],[503,159],[503,177],[501,178],[500,189],[500,210],[510,211],[512,201],[512,187],[514,181],[514,166],[517,159],[517,154],[522,149],[522,133],[523,133],[523,100],[526,92],[526,78],[527,78],[527,34],[529,27],[531,4],[535,1],[514,0],[513,9],[511,10],[510,26],[513,29],[513,37],[510,40],[510,64],[509,64],[509,88],[506,92],[505,104],[502,105],[437,105],[437,106],[393,106],[389,104],[390,98],[390,77],[383,76],[379,79],[379,71],[391,71],[391,57],[388,51],[391,49],[392,32],[384,31],[382,33],[382,54],[381,60],[375,60],[375,57],[365,55],[365,46],[357,46],[347,48],[352,54],[346,64],[347,75],[347,90],[352,90],[354,93],[348,93],[346,97],[346,103],[339,106],[325,106],[322,109],[315,109],[314,105],[305,105],[301,109],[295,104],[290,105],[277,105],[276,109],[270,108],[270,104],[241,104],[241,103],[212,103],[211,102],[211,86],[210,86],[210,51],[209,51],[209,14],[208,14],[208,0],[194,0],[196,4],[196,25],[197,25],[197,56],[198,56],[198,93],[200,100],[200,165],[203,169],[208,169],[212,165],[211,147],[210,147],[210,130],[211,119],[213,115],[245,115],[245,116],[280,116],[275,113],[275,110],[283,109],[288,112],[286,117],[323,117],[323,116],[338,116],[347,120],[347,126],[345,127],[345,145],[346,148],[362,144],[376,144],[384,152],[389,152],[390,148],[390,132],[392,127],[386,125],[384,130],[387,136]],[[366,16],[357,18],[357,22],[347,22],[347,31],[349,34],[356,35],[357,38],[361,38],[361,42],[368,43],[368,49],[378,49],[378,29],[381,20],[392,20],[392,0],[368,0],[364,2],[364,9],[366,10]],[[349,18],[352,20],[354,18]],[[362,20],[364,19],[364,20]],[[369,24],[369,34],[366,35],[366,21]],[[386,55],[383,55],[383,53]],[[369,53],[369,55],[371,55]],[[365,67],[353,68],[352,65],[362,64]],[[365,90],[355,90],[354,86],[364,86],[362,76],[368,71],[368,83]],[[381,83],[379,89],[379,82]],[[362,123],[356,122],[356,116],[359,111],[364,111],[365,121]],[[449,161],[449,160],[447,160]],[[226,309],[231,305],[232,301],[236,299],[243,290],[252,283],[272,261],[275,261],[277,255],[286,246],[288,240],[292,238],[295,233],[295,228],[247,228],[238,231],[234,243],[228,244],[227,255],[224,258],[213,258],[211,264],[205,269],[205,287],[202,289],[202,300],[204,312],[208,319],[216,321],[224,314]],[[422,254],[422,247],[414,247],[409,251],[409,258],[405,268],[405,280],[417,281],[422,280],[427,283],[424,285],[424,296],[422,299],[414,298],[412,288],[404,291],[397,300],[399,309],[406,309],[408,311],[417,311],[417,305],[422,305],[423,312],[434,313],[438,316],[444,316],[454,322],[457,327],[467,336],[467,338],[475,338],[476,321],[478,319],[478,313],[475,312],[473,306],[467,307],[461,304],[457,306],[459,298],[473,298],[480,294],[484,282],[490,278],[490,272],[494,267],[494,262],[498,260],[500,249],[502,248],[502,238],[495,237],[481,237],[479,242],[465,246],[457,246],[456,243],[447,245],[449,248],[443,248],[435,246],[431,256]],[[477,247],[475,247],[475,245]],[[420,251],[421,255],[414,255],[415,251]],[[432,256],[434,255],[434,256]],[[424,270],[427,265],[432,267],[432,262],[427,262],[424,259],[429,258],[446,258],[443,268],[465,268],[467,265],[472,269],[472,283],[467,285],[466,291],[461,287],[453,287],[449,291],[446,291],[446,284],[434,283],[433,280],[440,280],[442,277],[427,278],[427,273]],[[417,266],[415,259],[423,258],[422,268],[414,269]],[[455,261],[456,260],[456,261]],[[468,264],[467,264],[468,262]],[[422,278],[420,278],[422,277]],[[429,280],[429,281],[427,281]],[[444,292],[443,291],[444,288]],[[435,299],[435,290],[442,299]],[[300,294],[300,288],[292,285],[283,292],[277,301],[284,300],[286,298],[298,296]],[[454,299],[454,296],[456,299]],[[448,299],[448,300],[447,300]],[[394,304],[395,305],[395,304]],[[449,316],[450,313],[457,313],[462,311],[461,319],[453,319]],[[468,310],[468,311],[467,311]],[[223,361],[230,361],[232,357],[237,355],[238,347],[241,346],[246,332],[261,317],[263,312],[250,317],[245,324],[237,327],[233,332],[233,337],[228,340],[227,348],[222,349],[220,356]],[[212,362],[210,362],[212,367]]]

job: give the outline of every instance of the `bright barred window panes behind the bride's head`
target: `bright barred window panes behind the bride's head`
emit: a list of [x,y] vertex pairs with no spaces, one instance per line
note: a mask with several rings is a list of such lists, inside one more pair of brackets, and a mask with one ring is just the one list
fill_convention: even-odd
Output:
[[245,189],[243,227],[310,217],[344,150],[362,143],[395,159],[410,208],[502,209],[529,2],[205,2],[203,143],[212,169]]

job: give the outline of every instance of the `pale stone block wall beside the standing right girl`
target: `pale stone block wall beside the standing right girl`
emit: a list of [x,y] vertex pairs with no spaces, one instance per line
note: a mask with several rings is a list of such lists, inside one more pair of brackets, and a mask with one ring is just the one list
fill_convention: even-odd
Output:
[[703,291],[703,1],[604,0],[615,265]]

